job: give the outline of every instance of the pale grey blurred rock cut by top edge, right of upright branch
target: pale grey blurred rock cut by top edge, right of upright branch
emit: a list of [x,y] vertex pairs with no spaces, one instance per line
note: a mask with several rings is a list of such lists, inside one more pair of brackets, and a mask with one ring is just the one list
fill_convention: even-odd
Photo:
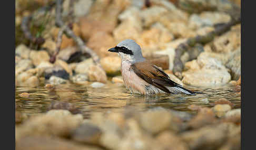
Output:
[[75,17],[82,17],[85,16],[91,6],[92,6],[93,1],[92,0],[86,0],[86,1],[78,1],[74,3],[73,9],[74,9],[74,16]]

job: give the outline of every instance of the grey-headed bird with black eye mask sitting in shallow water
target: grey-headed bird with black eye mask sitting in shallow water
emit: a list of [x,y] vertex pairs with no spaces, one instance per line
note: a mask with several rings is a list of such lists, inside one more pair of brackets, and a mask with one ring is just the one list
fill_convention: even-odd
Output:
[[149,60],[141,47],[132,39],[125,39],[108,51],[121,57],[121,73],[125,87],[131,94],[154,95],[160,93],[195,95],[195,92],[172,81],[168,74]]

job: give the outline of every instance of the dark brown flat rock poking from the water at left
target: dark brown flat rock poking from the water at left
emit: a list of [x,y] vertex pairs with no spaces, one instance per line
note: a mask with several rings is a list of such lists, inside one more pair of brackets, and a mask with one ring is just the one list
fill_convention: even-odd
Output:
[[47,110],[68,110],[72,114],[81,113],[81,111],[72,103],[52,101]]

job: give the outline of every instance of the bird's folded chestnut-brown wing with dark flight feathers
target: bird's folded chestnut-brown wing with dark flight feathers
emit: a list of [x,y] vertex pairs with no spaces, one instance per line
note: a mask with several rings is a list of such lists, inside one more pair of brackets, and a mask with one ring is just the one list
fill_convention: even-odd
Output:
[[164,73],[160,68],[156,67],[148,61],[136,62],[131,65],[131,69],[147,83],[154,85],[155,87],[167,92],[170,92],[166,87],[176,87],[180,85],[170,80],[169,76]]

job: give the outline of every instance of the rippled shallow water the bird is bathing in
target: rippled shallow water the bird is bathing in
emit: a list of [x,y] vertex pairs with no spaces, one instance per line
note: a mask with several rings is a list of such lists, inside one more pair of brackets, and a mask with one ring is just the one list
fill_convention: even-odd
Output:
[[[189,105],[212,106],[211,104],[220,98],[230,100],[235,104],[234,108],[241,108],[241,94],[233,92],[234,86],[232,85],[211,88],[186,86],[186,88],[203,93],[194,96],[161,94],[145,97],[132,95],[124,85],[112,83],[107,83],[102,88],[91,88],[89,85],[73,83],[56,85],[53,90],[43,86],[37,88],[16,87],[16,110],[28,115],[36,115],[46,112],[51,102],[62,101],[73,103],[82,111],[84,117],[90,116],[92,112],[124,111],[129,106],[139,111],[161,106],[193,114],[194,111],[188,109]],[[29,93],[29,97],[20,97],[19,94],[23,92]]]

